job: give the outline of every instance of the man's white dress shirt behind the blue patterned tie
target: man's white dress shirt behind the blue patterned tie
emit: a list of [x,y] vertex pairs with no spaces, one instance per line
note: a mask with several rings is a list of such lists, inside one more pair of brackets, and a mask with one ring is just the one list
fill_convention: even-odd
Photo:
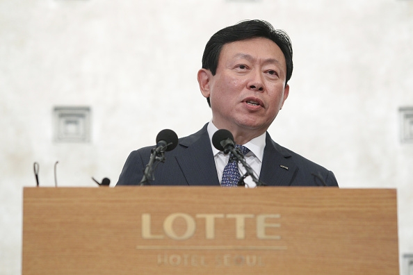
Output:
[[[215,125],[213,125],[213,122],[209,122],[208,127],[208,135],[209,135],[209,140],[211,140],[211,147],[212,147],[212,153],[213,153],[213,159],[215,160],[215,166],[216,166],[216,172],[218,174],[218,179],[221,183],[222,180],[222,172],[224,172],[224,168],[228,163],[229,160],[229,153],[225,155],[222,151],[219,151],[215,147],[213,147],[212,144],[212,136],[213,134],[218,131],[218,128],[216,128]],[[259,178],[259,172],[261,172],[261,165],[262,165],[262,158],[264,156],[264,148],[266,147],[266,133],[263,133],[262,135],[259,135],[257,138],[253,138],[249,142],[245,144],[240,144],[248,149],[250,151],[245,155],[245,161],[250,165],[252,170],[254,171],[255,176]],[[241,176],[245,174],[245,168],[243,165],[240,165],[238,163],[239,171],[241,173]],[[252,181],[252,178],[250,176],[246,177],[245,180],[245,188],[254,188],[257,185]]]

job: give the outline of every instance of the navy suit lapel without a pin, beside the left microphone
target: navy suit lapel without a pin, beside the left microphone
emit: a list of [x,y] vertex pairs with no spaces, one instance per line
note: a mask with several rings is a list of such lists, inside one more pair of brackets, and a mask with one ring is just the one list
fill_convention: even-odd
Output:
[[206,126],[179,142],[185,149],[175,158],[188,185],[220,185]]

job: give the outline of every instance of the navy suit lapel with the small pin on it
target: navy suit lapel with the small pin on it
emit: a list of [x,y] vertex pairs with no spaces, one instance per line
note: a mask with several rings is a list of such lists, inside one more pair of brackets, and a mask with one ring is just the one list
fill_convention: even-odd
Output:
[[297,172],[291,153],[275,143],[267,133],[259,180],[267,185],[288,186]]

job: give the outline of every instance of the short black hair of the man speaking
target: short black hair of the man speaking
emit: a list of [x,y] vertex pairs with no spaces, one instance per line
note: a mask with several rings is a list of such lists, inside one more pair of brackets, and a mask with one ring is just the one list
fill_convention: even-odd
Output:
[[[291,74],[293,74],[293,47],[291,46],[291,40],[286,32],[275,29],[264,20],[242,21],[234,26],[222,28],[222,30],[212,35],[204,49],[202,68],[209,69],[212,75],[215,75],[222,47],[227,43],[252,38],[267,38],[280,47],[286,61],[286,85],[291,78]],[[211,106],[209,97],[206,100],[209,106]]]

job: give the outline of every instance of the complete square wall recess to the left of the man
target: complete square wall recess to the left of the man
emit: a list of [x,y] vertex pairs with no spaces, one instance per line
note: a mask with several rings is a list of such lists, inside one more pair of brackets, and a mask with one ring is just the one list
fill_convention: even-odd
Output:
[[55,107],[54,140],[56,142],[89,142],[90,108]]

